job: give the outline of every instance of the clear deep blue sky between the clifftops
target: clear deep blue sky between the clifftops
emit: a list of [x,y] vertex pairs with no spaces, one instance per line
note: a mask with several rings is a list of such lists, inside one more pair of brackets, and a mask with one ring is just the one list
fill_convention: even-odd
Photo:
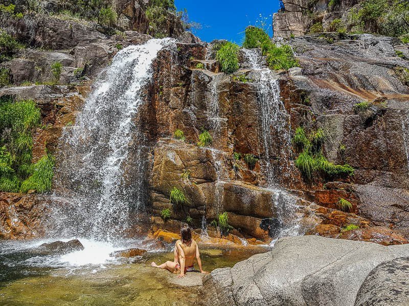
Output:
[[241,44],[244,29],[257,24],[258,19],[260,22],[260,14],[262,19],[267,17],[266,28],[272,35],[269,24],[272,14],[279,9],[279,0],[175,0],[175,5],[178,10],[186,8],[190,20],[202,24],[203,28],[196,32],[200,39],[208,42],[228,39]]

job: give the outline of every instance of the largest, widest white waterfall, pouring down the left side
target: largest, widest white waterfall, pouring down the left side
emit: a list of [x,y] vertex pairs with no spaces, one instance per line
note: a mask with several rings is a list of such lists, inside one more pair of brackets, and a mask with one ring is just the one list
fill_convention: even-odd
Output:
[[136,122],[152,61],[172,41],[151,39],[120,50],[93,86],[75,126],[65,128],[53,197],[56,235],[109,241],[143,208],[146,147]]

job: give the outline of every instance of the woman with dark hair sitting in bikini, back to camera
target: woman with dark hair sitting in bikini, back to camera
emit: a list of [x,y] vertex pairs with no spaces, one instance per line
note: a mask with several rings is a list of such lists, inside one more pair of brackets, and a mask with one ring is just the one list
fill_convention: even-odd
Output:
[[158,266],[152,262],[151,266],[161,269],[169,270],[172,273],[178,274],[178,278],[185,277],[186,272],[194,270],[194,259],[196,258],[200,273],[208,273],[201,268],[201,260],[199,247],[196,241],[192,239],[192,231],[188,225],[183,225],[180,228],[181,239],[176,241],[174,250],[174,261],[167,261]]

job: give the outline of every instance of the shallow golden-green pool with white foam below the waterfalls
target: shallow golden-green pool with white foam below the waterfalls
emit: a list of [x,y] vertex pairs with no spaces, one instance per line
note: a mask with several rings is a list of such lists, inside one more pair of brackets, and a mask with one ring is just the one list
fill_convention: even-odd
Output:
[[[109,257],[121,247],[87,240],[81,240],[83,251],[64,256],[30,251],[43,242],[0,243],[0,305],[203,305],[200,287],[173,285],[168,279],[175,274],[150,267],[152,261],[173,260],[170,248],[133,259]],[[212,271],[263,251],[203,245],[201,258]]]

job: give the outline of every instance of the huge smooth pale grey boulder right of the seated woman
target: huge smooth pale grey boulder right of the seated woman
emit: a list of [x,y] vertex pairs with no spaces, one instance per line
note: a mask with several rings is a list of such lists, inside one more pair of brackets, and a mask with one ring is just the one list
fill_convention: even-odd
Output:
[[[407,254],[407,245],[384,247],[315,236],[282,238],[270,252],[255,255],[233,268],[214,270],[203,279],[203,285],[209,304],[213,305],[354,305],[362,283],[358,294],[362,301],[365,301],[365,297],[360,299],[362,293],[375,292],[374,287],[369,289],[369,284],[385,290],[391,286],[382,287],[382,283],[376,283],[376,276],[368,276],[374,268],[371,275],[377,275],[378,268],[378,273],[391,275],[393,271],[382,268],[385,267],[382,263]],[[399,264],[406,266],[397,260],[396,269]],[[396,282],[407,291],[404,273],[405,269],[391,275],[391,284]],[[387,296],[390,302],[404,298],[403,294],[396,298],[392,294]]]

